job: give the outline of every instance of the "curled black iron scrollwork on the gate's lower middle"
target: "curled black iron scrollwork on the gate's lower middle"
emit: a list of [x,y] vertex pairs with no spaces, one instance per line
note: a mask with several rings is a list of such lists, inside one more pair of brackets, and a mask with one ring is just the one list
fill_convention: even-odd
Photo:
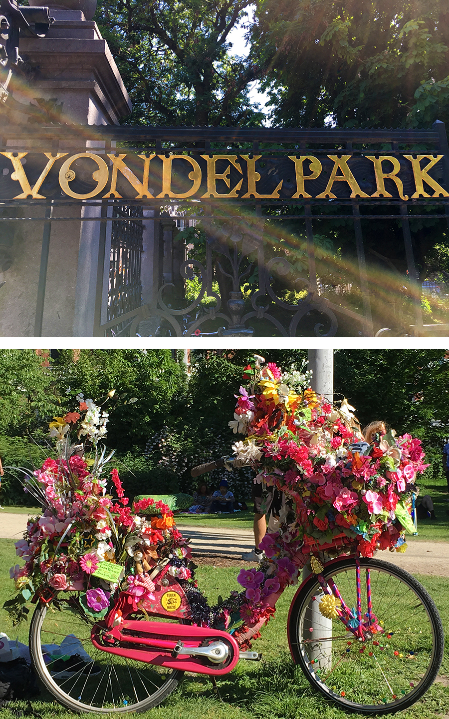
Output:
[[[173,308],[164,300],[164,295],[175,285],[165,283],[159,288],[157,307],[145,307],[133,326],[137,327],[142,319],[159,317],[163,327],[159,331],[165,331],[166,334],[252,336],[254,328],[250,321],[259,321],[267,328],[264,334],[272,334],[274,330],[282,336],[296,336],[305,321],[315,336],[335,335],[338,326],[335,313],[328,306],[328,301],[313,290],[307,279],[295,280],[295,285],[302,283],[307,289],[305,297],[297,303],[284,302],[277,295],[272,286],[274,268],[276,274],[282,276],[291,273],[292,267],[285,257],[266,259],[264,219],[257,216],[233,216],[224,224],[209,221],[207,224],[204,222],[203,226],[208,236],[205,263],[187,260],[180,272],[182,278],[191,279],[195,275],[200,280],[200,290],[195,300],[188,306]],[[256,278],[254,290],[250,288],[244,295],[242,285],[251,271]],[[213,289],[213,281],[219,276],[228,280],[226,296]],[[204,307],[202,301],[205,296],[215,298],[216,305]],[[224,303],[226,311],[221,311]],[[217,320],[223,321],[223,326],[217,327],[220,324]],[[215,331],[203,333],[202,328],[210,322],[215,324]],[[272,330],[269,330],[270,327]],[[310,331],[307,334],[310,335]]]

